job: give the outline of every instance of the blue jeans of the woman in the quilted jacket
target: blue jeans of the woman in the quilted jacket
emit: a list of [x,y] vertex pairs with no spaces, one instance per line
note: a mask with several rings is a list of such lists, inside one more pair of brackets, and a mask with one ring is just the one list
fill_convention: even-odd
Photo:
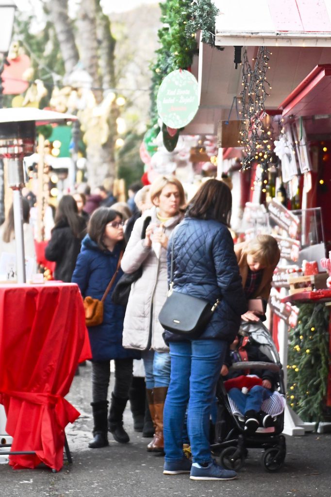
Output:
[[163,414],[166,461],[180,461],[183,457],[187,403],[187,431],[193,462],[211,460],[209,418],[227,347],[223,340],[170,342],[170,385]]

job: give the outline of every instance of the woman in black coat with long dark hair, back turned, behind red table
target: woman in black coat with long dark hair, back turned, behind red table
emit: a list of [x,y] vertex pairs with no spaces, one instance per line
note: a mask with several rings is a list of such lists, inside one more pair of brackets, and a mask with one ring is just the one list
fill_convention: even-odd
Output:
[[54,278],[70,283],[86,233],[86,221],[79,216],[75,199],[64,195],[55,214],[55,226],[45,249],[47,260],[55,261]]

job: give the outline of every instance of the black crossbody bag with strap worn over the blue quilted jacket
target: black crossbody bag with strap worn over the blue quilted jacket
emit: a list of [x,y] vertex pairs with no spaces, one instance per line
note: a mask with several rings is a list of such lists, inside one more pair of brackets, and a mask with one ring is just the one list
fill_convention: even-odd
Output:
[[217,299],[212,305],[207,300],[173,289],[173,242],[174,235],[171,244],[170,286],[159,321],[165,330],[187,338],[197,338],[205,330],[220,301]]

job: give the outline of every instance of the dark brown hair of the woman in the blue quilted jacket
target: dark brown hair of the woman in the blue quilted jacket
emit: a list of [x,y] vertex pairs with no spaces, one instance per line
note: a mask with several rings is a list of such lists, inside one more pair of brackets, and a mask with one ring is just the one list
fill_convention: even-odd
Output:
[[231,209],[229,186],[218,179],[208,179],[190,201],[186,215],[197,219],[213,219],[229,226]]

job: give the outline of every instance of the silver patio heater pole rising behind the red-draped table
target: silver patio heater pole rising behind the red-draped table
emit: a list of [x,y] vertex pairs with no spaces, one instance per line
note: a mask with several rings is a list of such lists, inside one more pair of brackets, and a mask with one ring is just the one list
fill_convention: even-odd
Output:
[[22,205],[22,191],[20,189],[13,190],[12,203],[14,209],[17,283],[26,283],[24,238],[23,238],[23,205]]

